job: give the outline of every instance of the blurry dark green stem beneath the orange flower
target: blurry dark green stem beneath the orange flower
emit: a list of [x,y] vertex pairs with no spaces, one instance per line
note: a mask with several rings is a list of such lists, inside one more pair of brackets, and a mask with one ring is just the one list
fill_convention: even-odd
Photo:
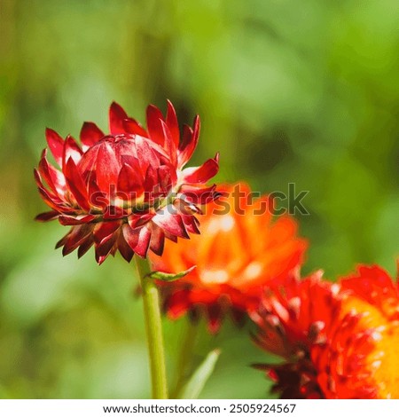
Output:
[[176,387],[173,391],[173,398],[177,398],[187,379],[187,369],[192,362],[192,352],[194,350],[196,336],[198,331],[198,324],[187,319],[187,326],[184,334],[184,341],[181,343],[181,350],[179,360],[177,363],[177,380]]

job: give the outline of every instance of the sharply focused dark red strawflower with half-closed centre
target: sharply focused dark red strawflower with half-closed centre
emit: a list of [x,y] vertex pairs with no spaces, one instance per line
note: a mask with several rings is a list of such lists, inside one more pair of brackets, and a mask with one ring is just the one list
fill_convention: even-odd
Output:
[[148,248],[160,255],[164,240],[198,233],[200,211],[217,196],[207,180],[218,170],[218,155],[197,168],[184,169],[197,146],[200,118],[184,126],[180,137],[176,112],[168,102],[166,117],[147,108],[147,130],[113,103],[110,133],[85,122],[81,146],[46,130],[48,146],[59,169],[42,154],[35,180],[43,201],[52,209],[37,220],[59,219],[72,226],[59,240],[63,255],[78,248],[78,256],[94,245],[98,264],[117,250],[129,262]]

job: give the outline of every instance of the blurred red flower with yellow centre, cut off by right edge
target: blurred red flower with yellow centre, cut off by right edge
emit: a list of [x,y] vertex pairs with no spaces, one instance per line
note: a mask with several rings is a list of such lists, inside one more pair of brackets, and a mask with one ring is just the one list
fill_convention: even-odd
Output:
[[378,266],[336,284],[290,277],[252,317],[256,342],[286,359],[258,365],[284,398],[399,398],[399,289]]

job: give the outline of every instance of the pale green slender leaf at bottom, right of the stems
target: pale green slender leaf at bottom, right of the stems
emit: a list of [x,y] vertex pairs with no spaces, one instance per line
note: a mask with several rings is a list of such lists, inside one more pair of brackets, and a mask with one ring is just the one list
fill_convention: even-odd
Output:
[[184,385],[181,399],[196,399],[200,396],[207,380],[214,372],[217,359],[220,356],[220,350],[215,349],[207,354],[207,358],[200,364],[197,370],[192,374],[190,380]]

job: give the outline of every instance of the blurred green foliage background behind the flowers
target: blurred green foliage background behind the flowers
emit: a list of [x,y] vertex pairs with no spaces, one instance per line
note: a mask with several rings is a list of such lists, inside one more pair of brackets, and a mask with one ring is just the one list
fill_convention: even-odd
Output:
[[[297,215],[304,272],[357,263],[395,273],[398,248],[398,15],[394,0],[0,1],[0,397],[149,396],[142,305],[132,264],[101,267],[54,250],[66,233],[33,168],[44,128],[106,128],[116,100],[176,105],[202,121],[192,165],[221,153],[218,181],[262,193],[309,191]],[[170,373],[184,319],[165,320]],[[203,325],[202,325],[203,327]],[[249,365],[270,360],[250,326],[201,328],[195,362],[222,356],[202,397],[264,398]],[[243,354],[243,352],[245,352]]]

